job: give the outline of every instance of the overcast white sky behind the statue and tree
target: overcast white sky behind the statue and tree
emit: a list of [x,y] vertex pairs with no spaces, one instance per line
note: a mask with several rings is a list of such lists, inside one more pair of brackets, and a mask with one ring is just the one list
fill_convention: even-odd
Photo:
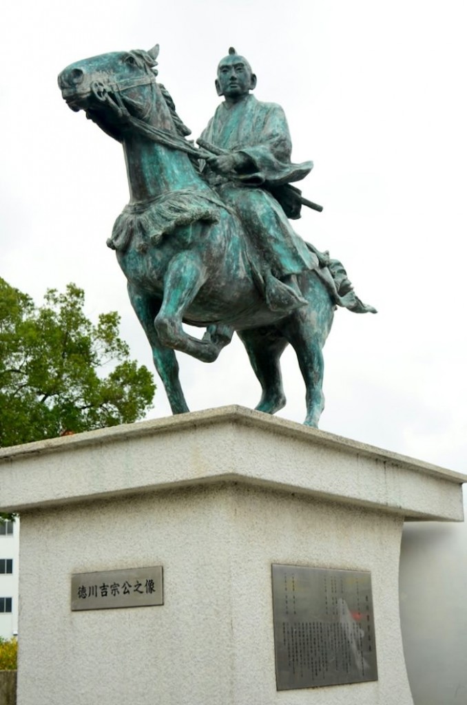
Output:
[[[296,229],[379,310],[336,313],[320,427],[466,472],[466,18],[464,0],[3,4],[0,276],[37,302],[74,281],[90,317],[119,310],[133,356],[152,369],[105,244],[128,200],[121,146],[67,108],[56,75],[159,43],[159,79],[196,137],[233,45],[257,73],[257,98],[284,106],[293,159],[315,162],[302,188],[325,211]],[[259,400],[238,341],[213,365],[178,359],[192,410]],[[293,350],[283,360],[281,415],[301,422]],[[169,413],[160,384],[151,416]]]

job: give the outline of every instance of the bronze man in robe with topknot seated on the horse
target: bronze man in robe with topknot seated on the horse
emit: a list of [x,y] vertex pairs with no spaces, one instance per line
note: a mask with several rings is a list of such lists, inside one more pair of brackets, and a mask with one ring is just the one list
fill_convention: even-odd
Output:
[[[224,102],[199,143],[217,155],[207,160],[207,179],[245,227],[255,280],[267,305],[286,312],[307,303],[294,275],[317,269],[320,262],[291,228],[279,200],[286,204],[284,187],[304,178],[313,162],[291,163],[284,111],[250,94],[255,85],[250,64],[231,47],[217,67],[216,88]],[[299,217],[296,202],[289,210],[289,216]]]

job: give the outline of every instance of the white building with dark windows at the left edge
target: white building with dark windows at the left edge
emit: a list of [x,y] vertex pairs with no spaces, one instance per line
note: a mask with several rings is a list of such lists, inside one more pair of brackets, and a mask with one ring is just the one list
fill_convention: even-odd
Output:
[[20,522],[0,522],[0,637],[18,633]]

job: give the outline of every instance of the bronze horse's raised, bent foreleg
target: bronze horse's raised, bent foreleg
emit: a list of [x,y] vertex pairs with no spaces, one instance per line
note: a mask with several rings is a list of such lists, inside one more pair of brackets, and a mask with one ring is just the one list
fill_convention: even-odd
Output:
[[[164,279],[164,300],[154,319],[159,341],[167,348],[188,353],[202,362],[214,362],[230,342],[230,336],[214,334],[214,329],[202,340],[183,330],[183,314],[206,281],[205,266],[195,252],[181,252],[171,260]],[[212,327],[212,326],[211,326]]]

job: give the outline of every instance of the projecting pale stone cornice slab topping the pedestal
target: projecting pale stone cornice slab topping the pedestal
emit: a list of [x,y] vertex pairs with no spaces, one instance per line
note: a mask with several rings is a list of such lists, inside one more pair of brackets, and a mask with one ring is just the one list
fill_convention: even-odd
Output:
[[467,476],[238,406],[0,450],[4,511],[215,482],[461,521]]

